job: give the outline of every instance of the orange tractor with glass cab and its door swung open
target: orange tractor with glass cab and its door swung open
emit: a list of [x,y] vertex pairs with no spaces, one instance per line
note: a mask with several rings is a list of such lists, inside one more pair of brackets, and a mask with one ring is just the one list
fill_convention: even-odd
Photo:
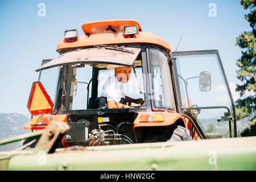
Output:
[[[236,137],[217,50],[175,52],[132,19],[88,22],[82,30],[81,36],[65,31],[57,44],[60,55],[36,69],[39,80],[28,101],[32,119],[24,129],[66,122],[71,129],[64,147]],[[125,98],[117,101],[127,107],[110,109],[104,84],[117,78],[120,67],[131,70],[122,84]]]

